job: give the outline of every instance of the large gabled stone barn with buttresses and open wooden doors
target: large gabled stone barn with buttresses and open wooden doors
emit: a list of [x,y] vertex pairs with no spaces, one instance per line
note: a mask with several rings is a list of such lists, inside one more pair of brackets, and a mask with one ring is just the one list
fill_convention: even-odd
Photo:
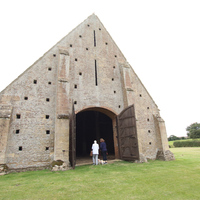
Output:
[[171,160],[165,123],[93,14],[0,93],[0,164],[69,168],[104,138],[115,158]]

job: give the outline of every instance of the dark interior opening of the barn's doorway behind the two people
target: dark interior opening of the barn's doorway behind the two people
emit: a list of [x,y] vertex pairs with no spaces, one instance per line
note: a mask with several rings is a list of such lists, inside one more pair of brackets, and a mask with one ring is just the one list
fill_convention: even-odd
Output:
[[114,155],[112,119],[98,111],[83,111],[76,115],[76,156],[89,156],[94,140],[103,138],[109,155]]

